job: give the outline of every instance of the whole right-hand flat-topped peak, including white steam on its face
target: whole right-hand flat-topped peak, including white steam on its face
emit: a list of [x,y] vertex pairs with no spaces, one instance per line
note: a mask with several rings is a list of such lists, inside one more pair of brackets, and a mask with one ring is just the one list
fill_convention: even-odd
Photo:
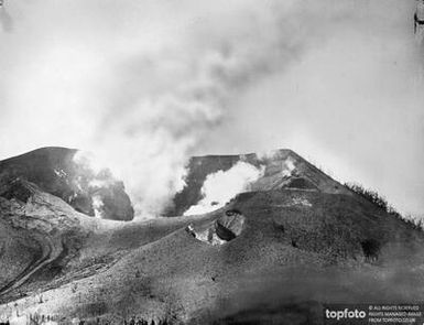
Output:
[[[252,169],[256,169],[257,172],[252,172]],[[254,180],[252,180],[252,174],[256,174]],[[214,177],[219,177],[216,186],[222,187],[215,192],[229,191],[229,195],[224,196],[226,199],[230,199],[230,195],[242,192],[274,189],[352,195],[344,185],[290,149],[278,149],[265,153],[193,156],[187,165],[186,185],[175,195],[173,204],[165,215],[186,214],[191,207],[195,207],[199,203],[205,204],[205,201],[208,201],[210,205],[218,205],[218,199],[207,198],[206,193],[214,192],[209,184]],[[244,184],[240,186],[242,181],[237,177],[244,177]],[[235,182],[238,183],[239,188],[231,189]],[[226,202],[219,204],[222,206]],[[210,209],[213,208],[210,206]],[[200,212],[202,209],[192,210]]]

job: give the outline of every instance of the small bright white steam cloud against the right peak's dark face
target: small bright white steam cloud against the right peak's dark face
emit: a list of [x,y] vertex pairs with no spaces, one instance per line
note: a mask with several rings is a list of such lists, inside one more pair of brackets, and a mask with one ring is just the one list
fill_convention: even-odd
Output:
[[207,175],[200,189],[203,199],[184,215],[202,215],[222,207],[237,194],[248,191],[249,185],[261,177],[263,172],[264,167],[258,169],[240,161],[226,172]]

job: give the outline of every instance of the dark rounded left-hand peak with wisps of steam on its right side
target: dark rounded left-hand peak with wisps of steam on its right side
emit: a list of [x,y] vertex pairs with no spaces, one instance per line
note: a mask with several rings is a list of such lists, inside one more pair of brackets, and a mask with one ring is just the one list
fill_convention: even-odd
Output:
[[[77,150],[66,148],[42,148],[1,161],[0,195],[25,202],[30,193],[19,186],[19,180],[23,180],[61,197],[79,213],[88,216],[99,214],[106,219],[131,220],[134,210],[123,183],[115,180],[106,170],[95,173],[76,163],[76,153]],[[94,198],[101,204],[96,205]]]

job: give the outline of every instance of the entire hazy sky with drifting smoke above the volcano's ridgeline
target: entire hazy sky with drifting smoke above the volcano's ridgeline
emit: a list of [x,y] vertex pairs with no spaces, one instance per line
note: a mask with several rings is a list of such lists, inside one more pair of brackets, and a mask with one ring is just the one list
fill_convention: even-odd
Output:
[[414,0],[6,0],[0,159],[93,151],[141,213],[193,154],[289,148],[424,214]]

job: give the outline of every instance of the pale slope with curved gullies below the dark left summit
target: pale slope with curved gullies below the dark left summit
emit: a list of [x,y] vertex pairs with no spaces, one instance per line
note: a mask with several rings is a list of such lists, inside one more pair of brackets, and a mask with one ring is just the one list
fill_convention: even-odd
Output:
[[25,203],[0,197],[0,292],[12,296],[21,294],[22,284],[40,270],[50,269],[54,278],[86,232],[79,221],[84,217],[62,199],[24,181],[20,181],[20,192],[25,193]]

